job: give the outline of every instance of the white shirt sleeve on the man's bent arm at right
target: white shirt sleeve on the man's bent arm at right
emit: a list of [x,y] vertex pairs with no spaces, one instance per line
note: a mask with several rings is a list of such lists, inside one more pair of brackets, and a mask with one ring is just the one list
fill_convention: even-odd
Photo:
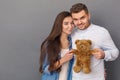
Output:
[[105,61],[113,61],[115,60],[119,55],[119,50],[115,46],[109,32],[105,29],[102,34],[102,45],[101,48],[105,52]]

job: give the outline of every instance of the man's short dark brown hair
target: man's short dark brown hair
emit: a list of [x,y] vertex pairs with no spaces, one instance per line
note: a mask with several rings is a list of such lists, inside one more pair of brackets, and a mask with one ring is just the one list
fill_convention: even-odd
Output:
[[74,4],[71,9],[70,9],[70,13],[78,13],[80,11],[84,10],[87,14],[88,14],[88,8],[85,4],[83,3],[77,3]]

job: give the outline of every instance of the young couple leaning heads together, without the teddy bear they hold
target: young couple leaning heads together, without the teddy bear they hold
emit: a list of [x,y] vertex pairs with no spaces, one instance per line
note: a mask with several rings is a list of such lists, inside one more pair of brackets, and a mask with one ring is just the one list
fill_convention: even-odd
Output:
[[[98,50],[91,57],[89,74],[73,71],[75,56],[71,51],[76,48],[77,39],[90,39],[92,48]],[[70,13],[63,11],[58,14],[51,33],[41,45],[41,80],[105,80],[104,60],[113,61],[118,54],[109,32],[90,22],[86,5],[74,4]]]

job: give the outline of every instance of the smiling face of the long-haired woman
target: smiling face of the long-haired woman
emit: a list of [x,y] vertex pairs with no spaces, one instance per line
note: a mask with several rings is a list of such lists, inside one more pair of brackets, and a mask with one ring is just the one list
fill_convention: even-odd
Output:
[[62,33],[71,34],[74,28],[72,17],[66,17],[62,23]]

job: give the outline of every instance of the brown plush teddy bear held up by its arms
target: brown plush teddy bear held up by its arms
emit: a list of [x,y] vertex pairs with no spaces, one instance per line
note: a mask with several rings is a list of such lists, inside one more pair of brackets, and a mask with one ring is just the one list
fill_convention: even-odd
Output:
[[76,40],[76,49],[73,49],[73,53],[76,55],[76,63],[73,67],[74,72],[79,73],[81,70],[88,74],[91,72],[90,63],[92,53],[95,52],[91,49],[91,40]]

